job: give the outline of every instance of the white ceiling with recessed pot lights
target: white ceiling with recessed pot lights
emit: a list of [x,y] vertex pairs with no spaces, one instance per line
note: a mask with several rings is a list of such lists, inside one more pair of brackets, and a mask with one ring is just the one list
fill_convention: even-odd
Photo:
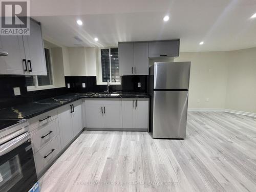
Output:
[[256,47],[256,18],[250,19],[255,12],[255,0],[30,1],[30,14],[42,23],[44,35],[67,47],[173,38],[181,39],[181,52]]

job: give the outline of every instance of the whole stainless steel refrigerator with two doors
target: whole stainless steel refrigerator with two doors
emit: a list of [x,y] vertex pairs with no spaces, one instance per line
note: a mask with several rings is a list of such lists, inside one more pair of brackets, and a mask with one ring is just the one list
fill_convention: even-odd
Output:
[[186,137],[189,75],[190,62],[155,62],[150,67],[153,138]]

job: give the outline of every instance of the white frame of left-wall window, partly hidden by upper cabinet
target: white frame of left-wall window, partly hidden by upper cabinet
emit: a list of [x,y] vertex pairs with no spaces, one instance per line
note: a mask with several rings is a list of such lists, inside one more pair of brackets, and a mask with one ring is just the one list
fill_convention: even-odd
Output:
[[44,89],[53,89],[55,88],[54,86],[54,76],[53,76],[53,67],[52,67],[52,53],[51,53],[51,48],[49,47],[44,47],[44,54],[45,54],[45,49],[49,50],[50,54],[50,68],[51,68],[51,78],[52,78],[52,84],[49,84],[47,86],[38,86],[38,78],[37,75],[33,75],[33,81],[34,81],[34,86],[27,86],[27,91],[36,91],[36,90],[44,90]]

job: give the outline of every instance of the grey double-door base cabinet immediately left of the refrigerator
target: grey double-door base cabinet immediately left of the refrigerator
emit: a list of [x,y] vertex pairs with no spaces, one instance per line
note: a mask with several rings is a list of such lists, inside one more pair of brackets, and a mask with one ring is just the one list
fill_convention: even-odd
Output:
[[148,129],[147,98],[122,99],[122,127],[126,129]]

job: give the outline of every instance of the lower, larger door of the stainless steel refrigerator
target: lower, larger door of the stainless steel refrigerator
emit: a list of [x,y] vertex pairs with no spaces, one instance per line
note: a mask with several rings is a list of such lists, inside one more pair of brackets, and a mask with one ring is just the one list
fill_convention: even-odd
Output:
[[186,137],[188,91],[154,91],[153,138]]

